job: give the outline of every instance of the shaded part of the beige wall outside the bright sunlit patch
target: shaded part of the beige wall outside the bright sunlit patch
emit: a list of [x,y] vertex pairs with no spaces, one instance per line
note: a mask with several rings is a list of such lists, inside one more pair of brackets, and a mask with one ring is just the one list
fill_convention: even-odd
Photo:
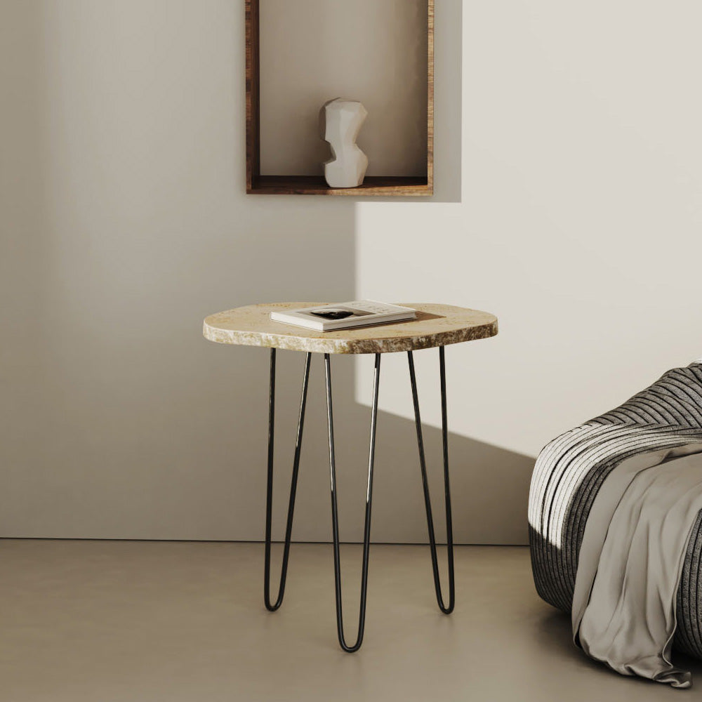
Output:
[[[435,200],[458,201],[461,2],[438,5]],[[244,194],[243,14],[228,0],[0,8],[4,536],[263,536],[268,356],[205,343],[201,319],[354,298],[356,215],[351,199]],[[331,532],[315,361],[295,529],[310,541]],[[302,362],[279,355],[276,524]],[[341,527],[357,539],[368,411],[352,362],[333,365]],[[425,541],[413,423],[383,414],[378,432],[374,540]],[[519,543],[510,505],[526,509],[531,459],[458,435],[450,451],[456,541]]]

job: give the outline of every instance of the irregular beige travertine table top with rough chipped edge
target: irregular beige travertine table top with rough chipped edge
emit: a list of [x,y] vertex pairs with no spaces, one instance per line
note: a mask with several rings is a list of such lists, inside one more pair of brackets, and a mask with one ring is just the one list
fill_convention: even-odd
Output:
[[417,310],[416,319],[360,329],[322,332],[270,319],[272,310],[325,304],[329,303],[270,303],[237,307],[206,317],[202,333],[206,339],[221,344],[344,354],[414,351],[484,339],[497,333],[497,317],[494,314],[430,303],[398,303]]

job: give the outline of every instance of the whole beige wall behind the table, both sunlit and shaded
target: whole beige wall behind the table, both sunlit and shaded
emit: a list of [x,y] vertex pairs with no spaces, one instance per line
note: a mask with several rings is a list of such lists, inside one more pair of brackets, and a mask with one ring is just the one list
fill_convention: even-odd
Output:
[[[243,194],[242,4],[0,4],[0,533],[261,538],[267,355],[201,318],[370,296],[499,315],[446,354],[456,536],[523,542],[539,447],[702,352],[702,8],[437,0],[437,195],[370,202]],[[295,533],[324,540],[316,361]],[[367,362],[334,365],[346,538]],[[379,541],[425,538],[404,364],[383,359]]]

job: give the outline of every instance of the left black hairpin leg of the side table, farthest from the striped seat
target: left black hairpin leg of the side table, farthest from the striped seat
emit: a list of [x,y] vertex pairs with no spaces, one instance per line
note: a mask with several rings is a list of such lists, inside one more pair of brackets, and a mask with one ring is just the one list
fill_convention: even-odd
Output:
[[274,603],[270,601],[270,542],[271,521],[273,510],[273,448],[275,424],[275,349],[270,350],[270,394],[268,398],[268,478],[266,484],[265,502],[265,565],[263,581],[263,600],[266,609],[275,611],[283,602],[285,592],[285,579],[288,572],[288,556],[290,554],[290,538],[293,533],[293,512],[295,510],[295,494],[298,487],[298,469],[300,468],[300,449],[303,442],[303,426],[305,424],[305,405],[307,404],[307,381],[310,378],[310,359],[308,353],[303,371],[303,389],[300,397],[300,415],[298,418],[298,432],[295,442],[295,456],[293,458],[293,475],[290,481],[290,500],[288,502],[288,520],[285,526],[285,545],[283,547],[283,563],[280,569],[280,584],[278,596]]

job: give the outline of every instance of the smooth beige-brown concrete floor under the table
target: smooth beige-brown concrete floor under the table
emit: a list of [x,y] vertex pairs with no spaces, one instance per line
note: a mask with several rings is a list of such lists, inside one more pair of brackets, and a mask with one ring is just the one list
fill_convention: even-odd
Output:
[[[344,552],[352,638],[360,547]],[[5,540],[0,560],[0,702],[702,697],[699,664],[698,689],[681,691],[585,658],[536,596],[526,548],[457,548],[444,616],[427,547],[373,546],[357,654],[336,642],[329,545],[293,545],[273,614],[260,544]]]

